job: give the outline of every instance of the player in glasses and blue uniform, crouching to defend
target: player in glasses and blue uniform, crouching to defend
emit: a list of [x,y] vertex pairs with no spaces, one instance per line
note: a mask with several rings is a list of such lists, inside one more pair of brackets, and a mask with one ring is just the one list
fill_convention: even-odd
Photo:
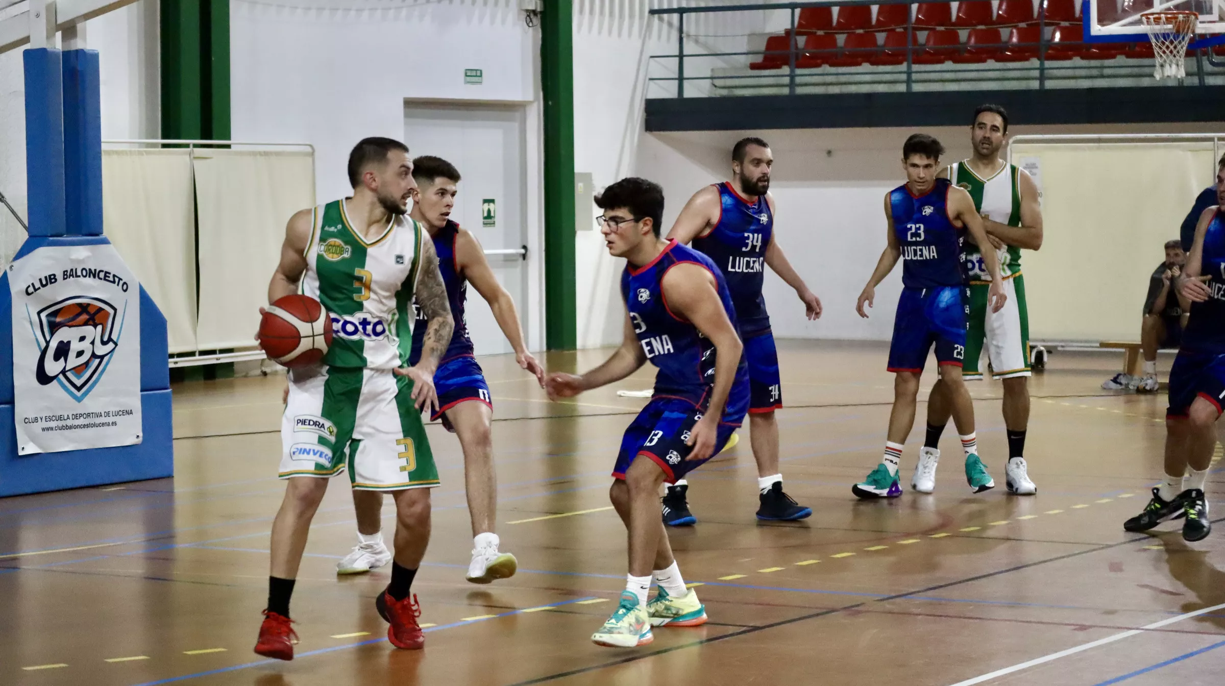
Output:
[[[650,643],[654,626],[706,622],[697,593],[685,587],[655,499],[710,459],[748,409],[735,310],[723,274],[706,255],[659,238],[664,191],[646,179],[622,179],[595,198],[614,257],[625,257],[621,296],[625,339],[604,364],[582,376],[550,374],[550,398],[568,398],[658,368],[655,394],[630,424],[612,469],[609,497],[630,532],[630,575],[616,611],[592,636],[599,646]],[[654,570],[654,572],[652,572]],[[654,577],[659,593],[647,603]]]

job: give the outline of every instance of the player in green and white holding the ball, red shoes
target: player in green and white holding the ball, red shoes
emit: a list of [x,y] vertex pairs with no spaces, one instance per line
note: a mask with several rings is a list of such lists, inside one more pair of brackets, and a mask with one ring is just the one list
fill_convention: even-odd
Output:
[[[391,583],[376,599],[397,648],[419,649],[421,614],[410,595],[430,541],[430,489],[439,485],[421,408],[437,408],[434,370],[451,339],[447,290],[434,244],[407,217],[415,183],[408,148],[365,138],[349,153],[353,197],[289,219],[268,301],[299,289],[332,316],[332,347],[321,365],[289,371],[281,424],[285,497],[272,523],[268,606],[255,652],[294,658],[289,597],[311,518],[328,478],[345,470],[356,490],[391,491],[396,545]],[[417,298],[429,320],[421,360],[407,366]]]

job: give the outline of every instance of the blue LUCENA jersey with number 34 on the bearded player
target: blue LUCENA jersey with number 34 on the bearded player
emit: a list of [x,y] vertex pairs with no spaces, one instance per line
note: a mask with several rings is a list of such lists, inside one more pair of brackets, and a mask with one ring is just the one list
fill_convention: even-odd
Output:
[[766,249],[774,235],[774,217],[766,196],[748,203],[731,184],[719,189],[720,213],[714,228],[693,239],[693,247],[704,252],[723,271],[731,290],[731,303],[740,321],[740,337],[750,338],[769,331],[769,315],[762,283],[766,278]]

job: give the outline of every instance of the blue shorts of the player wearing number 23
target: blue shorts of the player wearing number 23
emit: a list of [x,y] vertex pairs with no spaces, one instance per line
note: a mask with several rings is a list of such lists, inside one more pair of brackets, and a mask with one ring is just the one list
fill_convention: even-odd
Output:
[[936,345],[936,361],[962,366],[965,358],[965,287],[903,288],[893,320],[889,371],[922,372],[927,352]]

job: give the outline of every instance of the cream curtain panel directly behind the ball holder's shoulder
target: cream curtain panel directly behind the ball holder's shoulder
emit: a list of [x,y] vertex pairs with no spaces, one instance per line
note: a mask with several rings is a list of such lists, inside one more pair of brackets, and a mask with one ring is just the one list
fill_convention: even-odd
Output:
[[255,344],[285,224],[315,205],[310,152],[195,151],[201,350]]

